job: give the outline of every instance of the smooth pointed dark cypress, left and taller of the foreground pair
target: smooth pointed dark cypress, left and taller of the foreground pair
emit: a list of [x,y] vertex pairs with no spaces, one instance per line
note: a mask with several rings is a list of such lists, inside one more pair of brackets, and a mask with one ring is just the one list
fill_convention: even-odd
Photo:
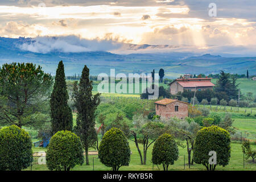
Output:
[[55,83],[51,94],[51,122],[52,134],[57,131],[73,129],[72,110],[68,106],[68,90],[65,81],[63,61],[60,61],[56,70]]

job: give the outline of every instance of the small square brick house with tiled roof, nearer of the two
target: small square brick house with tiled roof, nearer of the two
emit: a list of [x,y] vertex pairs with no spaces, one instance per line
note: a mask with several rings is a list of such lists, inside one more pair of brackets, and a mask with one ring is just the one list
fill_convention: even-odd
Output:
[[155,113],[161,118],[177,117],[184,119],[188,117],[188,105],[187,102],[164,98],[155,102]]

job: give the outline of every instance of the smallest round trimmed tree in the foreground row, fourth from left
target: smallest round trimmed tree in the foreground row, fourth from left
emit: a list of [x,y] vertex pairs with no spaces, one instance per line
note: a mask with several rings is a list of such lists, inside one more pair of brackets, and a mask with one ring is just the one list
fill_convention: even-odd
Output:
[[178,158],[179,149],[172,135],[163,134],[156,139],[152,151],[153,164],[163,164],[164,171],[168,171],[168,166],[173,165]]

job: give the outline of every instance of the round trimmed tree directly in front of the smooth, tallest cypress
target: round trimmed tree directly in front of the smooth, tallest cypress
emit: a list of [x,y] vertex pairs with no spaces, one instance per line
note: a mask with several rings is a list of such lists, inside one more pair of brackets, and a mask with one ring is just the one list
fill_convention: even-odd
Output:
[[71,131],[58,131],[51,138],[46,152],[48,169],[69,171],[84,163],[84,151],[79,137]]

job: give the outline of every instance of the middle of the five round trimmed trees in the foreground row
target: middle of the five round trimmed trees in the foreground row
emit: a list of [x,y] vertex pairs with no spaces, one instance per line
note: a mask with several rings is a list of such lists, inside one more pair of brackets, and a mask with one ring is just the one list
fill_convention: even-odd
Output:
[[98,157],[102,164],[118,171],[121,166],[129,166],[129,143],[122,130],[113,127],[104,134],[98,150]]

